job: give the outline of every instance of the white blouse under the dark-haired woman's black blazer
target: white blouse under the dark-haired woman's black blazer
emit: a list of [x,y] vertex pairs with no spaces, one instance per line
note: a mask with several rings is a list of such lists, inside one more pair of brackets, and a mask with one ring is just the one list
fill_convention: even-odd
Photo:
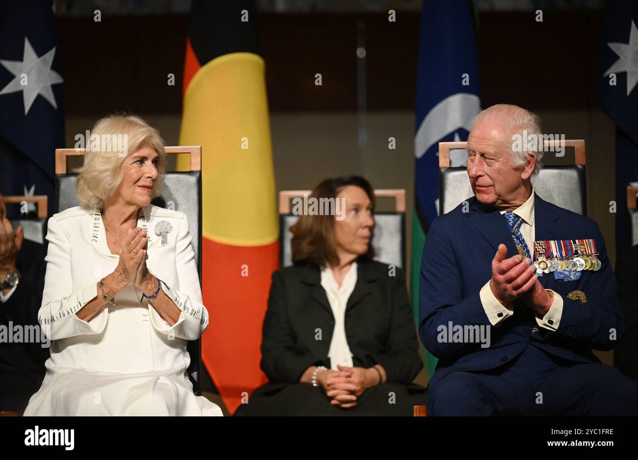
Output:
[[321,271],[321,285],[325,289],[328,297],[332,316],[334,316],[334,331],[332,332],[332,340],[330,340],[330,349],[328,357],[330,358],[330,368],[338,370],[337,364],[341,366],[352,367],[352,352],[348,346],[346,338],[346,305],[350,294],[357,284],[357,262],[352,262],[350,270],[341,282],[341,287],[334,279],[332,268],[325,266]]

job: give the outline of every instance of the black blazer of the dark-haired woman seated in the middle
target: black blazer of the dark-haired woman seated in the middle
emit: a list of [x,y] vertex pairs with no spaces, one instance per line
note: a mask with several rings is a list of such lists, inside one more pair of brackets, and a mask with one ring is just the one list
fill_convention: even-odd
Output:
[[[387,382],[409,384],[423,364],[403,271],[359,259],[345,313],[353,365],[381,364]],[[321,330],[321,340],[315,340]],[[295,265],[272,275],[263,322],[262,370],[271,382],[299,382],[309,366],[330,368],[334,317],[315,264]]]

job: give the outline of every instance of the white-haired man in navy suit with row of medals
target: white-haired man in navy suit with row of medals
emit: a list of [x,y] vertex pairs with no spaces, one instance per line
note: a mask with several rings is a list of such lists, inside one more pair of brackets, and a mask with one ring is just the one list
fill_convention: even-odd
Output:
[[[623,332],[602,233],[534,193],[543,144],[516,148],[523,133],[541,134],[533,113],[506,104],[479,113],[467,144],[475,197],[427,233],[419,336],[439,359],[428,414],[636,415],[638,382],[591,353]],[[597,254],[584,258],[588,270],[546,268],[550,250],[574,256],[579,240]],[[535,241],[549,259],[538,268]]]

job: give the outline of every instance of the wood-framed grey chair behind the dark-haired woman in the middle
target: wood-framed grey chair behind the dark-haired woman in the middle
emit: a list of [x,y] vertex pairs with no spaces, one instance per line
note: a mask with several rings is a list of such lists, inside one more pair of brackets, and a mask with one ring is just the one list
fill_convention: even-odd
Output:
[[[310,196],[312,190],[281,190],[279,192],[279,219],[281,236],[279,238],[281,266],[292,265],[290,227],[299,218],[291,212],[290,201]],[[378,189],[376,198],[393,198],[393,212],[375,212],[375,231],[372,245],[375,247],[375,260],[398,267],[405,267],[405,189]],[[398,236],[398,238],[397,238]]]

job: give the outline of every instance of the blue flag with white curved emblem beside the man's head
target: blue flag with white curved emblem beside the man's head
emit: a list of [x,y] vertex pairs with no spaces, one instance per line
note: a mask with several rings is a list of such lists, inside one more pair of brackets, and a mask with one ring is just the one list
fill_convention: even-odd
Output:
[[[438,216],[438,143],[466,141],[480,111],[476,0],[424,0],[417,62],[414,136],[415,209],[410,290],[419,324],[419,280],[427,231]],[[450,151],[450,166],[465,166],[464,150]],[[460,236],[459,236],[460,237]],[[436,358],[425,350],[432,377]]]

